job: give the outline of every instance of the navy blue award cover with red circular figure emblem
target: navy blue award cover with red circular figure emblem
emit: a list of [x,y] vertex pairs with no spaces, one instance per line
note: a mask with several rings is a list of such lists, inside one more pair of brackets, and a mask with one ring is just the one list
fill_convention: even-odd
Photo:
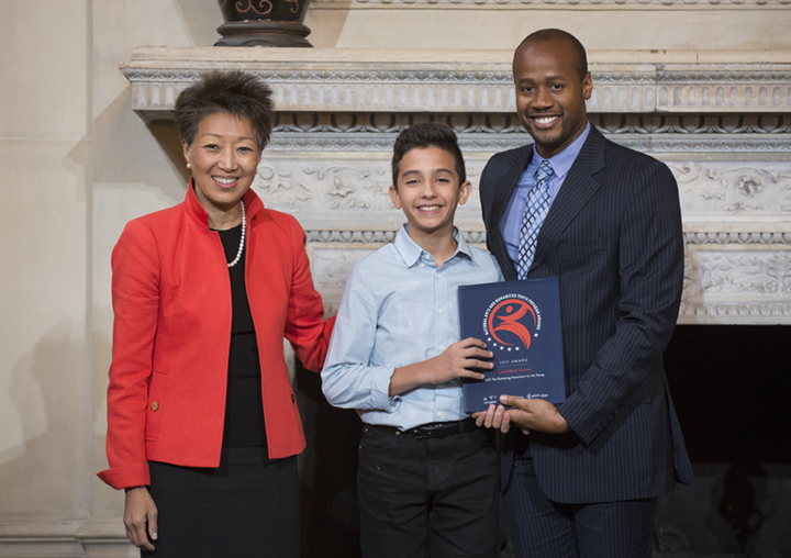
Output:
[[557,277],[459,287],[461,338],[494,353],[483,380],[464,383],[465,412],[498,404],[500,395],[566,401]]

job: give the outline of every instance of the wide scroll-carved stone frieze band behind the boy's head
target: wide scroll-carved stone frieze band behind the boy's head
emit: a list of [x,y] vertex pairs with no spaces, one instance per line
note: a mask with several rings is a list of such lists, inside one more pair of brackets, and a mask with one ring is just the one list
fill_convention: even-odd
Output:
[[[467,157],[474,192],[467,204],[458,208],[460,219],[480,220],[477,178],[487,158]],[[780,226],[791,219],[791,161],[671,160],[668,166],[679,182],[686,220],[718,224],[734,219],[760,221],[767,233],[772,233],[768,220]],[[398,216],[387,193],[391,182],[388,153],[359,158],[346,152],[313,159],[270,153],[258,167],[254,187],[269,207],[293,213],[303,220],[303,226],[312,226],[311,216],[326,219],[334,213],[344,227],[348,219]]]

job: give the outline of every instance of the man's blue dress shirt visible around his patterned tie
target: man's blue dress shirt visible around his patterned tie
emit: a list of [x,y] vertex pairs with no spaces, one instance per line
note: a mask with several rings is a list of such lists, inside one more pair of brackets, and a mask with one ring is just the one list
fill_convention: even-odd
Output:
[[[586,125],[586,129],[580,134],[580,136],[573,142],[571,142],[568,147],[566,147],[564,150],[561,150],[554,157],[549,157],[549,163],[552,164],[553,170],[555,171],[555,174],[549,178],[550,209],[552,203],[555,201],[557,192],[560,190],[562,182],[566,179],[566,175],[568,174],[571,165],[573,165],[573,161],[577,158],[577,155],[579,155],[579,152],[582,148],[582,144],[584,144],[586,140],[588,140],[589,133],[590,122]],[[505,248],[508,249],[511,260],[516,266],[519,266],[519,244],[522,231],[522,217],[524,215],[525,205],[527,203],[527,193],[530,193],[531,188],[533,188],[533,179],[535,177],[535,171],[538,170],[538,167],[541,166],[544,157],[538,155],[538,152],[535,148],[535,144],[533,144],[533,159],[531,160],[530,165],[527,165],[527,168],[524,170],[524,172],[522,172],[519,185],[516,186],[513,194],[511,194],[511,200],[509,201],[508,208],[505,208],[505,212],[503,213],[502,220],[500,221],[500,232],[502,233],[503,239],[505,241]]]

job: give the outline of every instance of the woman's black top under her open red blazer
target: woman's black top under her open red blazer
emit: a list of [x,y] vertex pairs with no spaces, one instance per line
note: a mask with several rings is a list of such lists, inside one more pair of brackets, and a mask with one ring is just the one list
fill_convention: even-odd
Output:
[[[233,261],[242,239],[242,224],[218,233],[225,249],[226,261]],[[233,321],[223,447],[266,445],[258,344],[245,286],[246,252],[245,241],[242,257],[234,267],[229,268]]]

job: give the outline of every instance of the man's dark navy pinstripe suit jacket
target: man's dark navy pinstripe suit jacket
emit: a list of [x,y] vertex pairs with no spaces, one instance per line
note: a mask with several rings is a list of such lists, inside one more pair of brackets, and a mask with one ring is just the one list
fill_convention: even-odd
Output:
[[[494,155],[481,175],[489,250],[516,279],[500,221],[532,145]],[[653,498],[692,469],[661,355],[678,316],[683,239],[678,187],[667,166],[591,127],[537,239],[528,278],[558,276],[573,432],[532,432],[538,482],[553,501]],[[515,436],[506,436],[506,489]]]

